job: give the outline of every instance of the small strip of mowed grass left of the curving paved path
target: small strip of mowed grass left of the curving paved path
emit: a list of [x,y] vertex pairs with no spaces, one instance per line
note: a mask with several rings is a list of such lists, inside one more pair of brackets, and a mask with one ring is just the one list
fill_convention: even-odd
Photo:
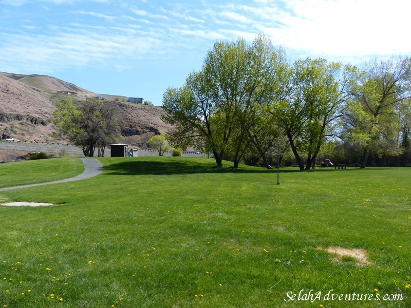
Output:
[[43,159],[0,164],[0,188],[72,178],[84,171],[78,158]]

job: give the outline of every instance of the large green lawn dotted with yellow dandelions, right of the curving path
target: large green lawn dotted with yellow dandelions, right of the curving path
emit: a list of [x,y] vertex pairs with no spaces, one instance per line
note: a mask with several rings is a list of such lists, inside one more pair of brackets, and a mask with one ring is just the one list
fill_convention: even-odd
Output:
[[[56,204],[0,206],[0,307],[411,306],[409,168],[285,168],[276,185],[200,158],[99,160],[95,178],[0,193]],[[380,300],[289,300],[303,289]]]

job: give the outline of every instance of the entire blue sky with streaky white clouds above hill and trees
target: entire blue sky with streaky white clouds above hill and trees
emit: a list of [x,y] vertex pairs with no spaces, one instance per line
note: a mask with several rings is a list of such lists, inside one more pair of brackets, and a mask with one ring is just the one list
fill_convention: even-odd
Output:
[[0,0],[0,71],[161,105],[216,40],[258,33],[288,59],[409,55],[407,0]]

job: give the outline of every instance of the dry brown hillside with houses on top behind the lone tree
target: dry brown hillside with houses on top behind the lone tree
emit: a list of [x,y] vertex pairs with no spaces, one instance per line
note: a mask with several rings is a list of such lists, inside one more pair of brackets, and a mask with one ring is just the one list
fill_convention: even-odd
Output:
[[[55,130],[52,124],[55,105],[66,98],[85,100],[95,96],[106,98],[107,104],[120,106],[122,142],[142,145],[155,133],[165,133],[171,128],[160,119],[164,110],[157,106],[125,103],[126,97],[97,94],[47,75],[0,72],[0,134],[22,141],[54,141],[51,134]],[[120,102],[115,102],[116,98]]]

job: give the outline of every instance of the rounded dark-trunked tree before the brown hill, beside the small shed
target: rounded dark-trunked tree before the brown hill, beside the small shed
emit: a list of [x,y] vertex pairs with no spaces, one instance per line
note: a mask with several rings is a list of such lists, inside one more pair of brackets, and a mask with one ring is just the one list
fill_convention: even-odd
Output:
[[81,146],[84,156],[104,156],[108,143],[119,138],[118,108],[96,99],[88,99],[74,104],[70,99],[64,100],[54,111],[56,135]]

